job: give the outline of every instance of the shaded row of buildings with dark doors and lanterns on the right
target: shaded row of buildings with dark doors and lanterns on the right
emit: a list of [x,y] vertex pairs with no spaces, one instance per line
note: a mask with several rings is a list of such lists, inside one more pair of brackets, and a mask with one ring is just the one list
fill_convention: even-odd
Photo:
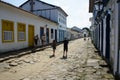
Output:
[[[93,43],[117,78],[120,76],[120,0],[89,0],[93,13]],[[95,7],[97,5],[97,8]],[[120,79],[120,78],[119,78]]]

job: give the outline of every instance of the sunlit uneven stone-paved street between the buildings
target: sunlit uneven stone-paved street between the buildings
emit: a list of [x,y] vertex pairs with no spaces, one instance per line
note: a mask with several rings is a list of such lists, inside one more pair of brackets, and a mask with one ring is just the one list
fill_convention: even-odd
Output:
[[69,42],[67,59],[62,59],[63,44],[57,46],[53,58],[49,58],[51,47],[14,57],[0,63],[0,80],[115,80],[95,51],[90,40],[77,39]]

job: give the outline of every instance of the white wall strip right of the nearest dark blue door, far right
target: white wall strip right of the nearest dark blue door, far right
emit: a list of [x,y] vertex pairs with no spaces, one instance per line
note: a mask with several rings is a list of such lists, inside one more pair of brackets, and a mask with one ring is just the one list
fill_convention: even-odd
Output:
[[[110,0],[106,6],[106,10],[111,8],[111,24],[110,24],[110,61],[113,72],[117,71],[118,64],[118,4],[117,0]],[[120,64],[120,63],[119,63]],[[120,69],[120,68],[119,68]],[[120,70],[119,70],[120,72]]]

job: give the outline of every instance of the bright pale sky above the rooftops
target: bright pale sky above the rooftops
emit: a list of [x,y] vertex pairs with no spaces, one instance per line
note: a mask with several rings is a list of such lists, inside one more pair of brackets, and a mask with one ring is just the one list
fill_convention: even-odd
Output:
[[[2,0],[15,6],[20,6],[27,0]],[[89,0],[41,0],[61,7],[67,14],[67,27],[77,26],[79,28],[90,27]]]

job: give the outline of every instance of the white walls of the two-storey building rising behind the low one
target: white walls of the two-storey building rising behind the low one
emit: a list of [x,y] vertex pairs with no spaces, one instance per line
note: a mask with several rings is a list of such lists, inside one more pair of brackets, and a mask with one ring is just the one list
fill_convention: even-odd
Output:
[[[30,1],[28,1],[26,4],[24,4],[23,6],[21,6],[21,8],[30,11]],[[56,9],[53,9],[56,8]],[[37,12],[33,12],[34,14],[37,15],[42,15],[50,20],[56,21],[58,23],[58,29],[57,29],[57,41],[59,42],[61,37],[59,37],[59,34],[61,32],[59,32],[59,30],[65,30],[67,28],[67,15],[57,6],[51,5],[49,3],[44,3],[42,1],[38,1],[38,0],[34,0],[34,5],[33,5],[33,10],[40,10],[40,9],[51,9],[51,10],[43,10],[43,11],[37,11]],[[62,16],[60,16],[59,14],[61,14],[63,17],[65,17],[63,19]],[[62,19],[63,21],[65,21],[65,23],[62,23],[59,21],[59,19]],[[62,35],[66,36],[66,34]]]

